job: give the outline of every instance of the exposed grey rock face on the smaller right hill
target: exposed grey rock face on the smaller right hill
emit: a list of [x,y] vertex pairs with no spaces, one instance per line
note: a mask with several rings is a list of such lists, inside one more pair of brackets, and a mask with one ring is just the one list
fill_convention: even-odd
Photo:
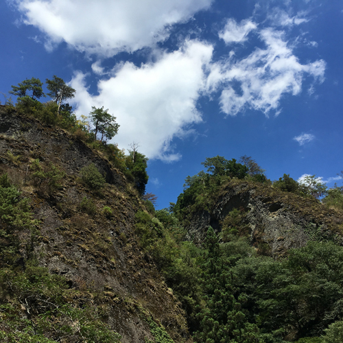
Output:
[[[204,241],[206,230],[223,228],[233,209],[242,215],[241,226],[260,252],[279,257],[289,248],[305,246],[309,240],[333,240],[342,245],[343,216],[314,198],[278,191],[271,186],[231,180],[211,196],[211,209],[198,209],[188,216],[188,239]],[[262,251],[263,250],[263,251]]]

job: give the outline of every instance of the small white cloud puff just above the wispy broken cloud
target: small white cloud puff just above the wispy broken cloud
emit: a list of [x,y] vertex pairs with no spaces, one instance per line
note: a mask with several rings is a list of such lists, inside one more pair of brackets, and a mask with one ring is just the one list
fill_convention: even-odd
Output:
[[235,19],[228,19],[224,29],[219,32],[219,36],[226,44],[243,43],[248,39],[248,34],[256,28],[257,25],[250,20],[244,20],[237,24]]

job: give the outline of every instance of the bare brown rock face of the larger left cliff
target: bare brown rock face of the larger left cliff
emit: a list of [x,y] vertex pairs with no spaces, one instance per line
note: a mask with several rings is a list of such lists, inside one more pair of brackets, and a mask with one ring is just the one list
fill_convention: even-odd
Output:
[[[34,185],[31,166],[37,158],[43,167],[52,163],[64,171],[61,187]],[[106,178],[101,191],[80,182],[80,170],[91,163]],[[104,320],[122,336],[121,342],[153,340],[151,320],[162,324],[174,342],[191,342],[180,304],[134,232],[134,214],[144,206],[100,152],[64,130],[0,106],[0,169],[30,199],[40,223],[33,248],[38,265],[80,291],[75,306],[103,307]],[[18,233],[18,239],[23,235]],[[25,261],[25,248],[21,255]]]

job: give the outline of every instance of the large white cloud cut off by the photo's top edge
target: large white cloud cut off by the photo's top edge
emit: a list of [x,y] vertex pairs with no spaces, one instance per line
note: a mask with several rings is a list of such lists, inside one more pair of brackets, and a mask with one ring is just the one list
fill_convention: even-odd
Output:
[[14,0],[24,22],[46,34],[47,49],[65,41],[78,51],[113,56],[169,36],[213,0]]

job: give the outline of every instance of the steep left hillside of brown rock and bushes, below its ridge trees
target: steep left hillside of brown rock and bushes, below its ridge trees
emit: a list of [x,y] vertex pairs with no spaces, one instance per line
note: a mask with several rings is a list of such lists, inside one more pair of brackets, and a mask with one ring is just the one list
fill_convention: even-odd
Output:
[[[174,342],[186,342],[180,304],[135,233],[134,215],[145,207],[121,171],[67,131],[10,107],[1,106],[0,116],[0,174],[19,189],[20,199],[29,200],[27,211],[36,220],[34,228],[1,221],[0,303],[10,309],[1,309],[0,331],[23,340],[27,332],[49,342],[80,342],[82,325],[75,323],[83,320],[86,332],[99,320],[106,323],[93,328],[99,337],[110,329],[120,342],[147,342],[166,329]],[[45,174],[34,175],[35,161]],[[102,189],[80,179],[91,163],[106,179]],[[46,278],[50,288],[43,285]]]

